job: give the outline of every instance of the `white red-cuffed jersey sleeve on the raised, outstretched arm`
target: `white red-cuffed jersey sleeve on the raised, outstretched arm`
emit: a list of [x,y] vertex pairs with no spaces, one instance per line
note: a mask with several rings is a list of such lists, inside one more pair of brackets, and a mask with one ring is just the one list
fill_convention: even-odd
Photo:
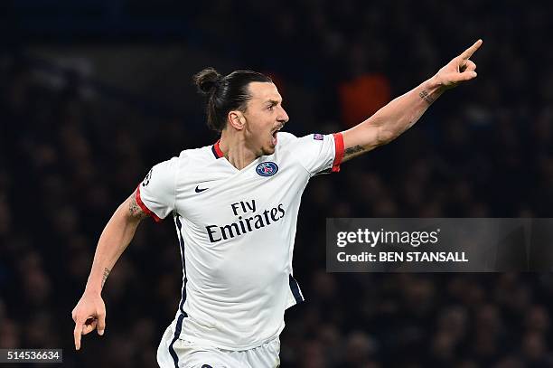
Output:
[[295,142],[295,155],[312,176],[340,171],[343,158],[342,133],[310,134]]

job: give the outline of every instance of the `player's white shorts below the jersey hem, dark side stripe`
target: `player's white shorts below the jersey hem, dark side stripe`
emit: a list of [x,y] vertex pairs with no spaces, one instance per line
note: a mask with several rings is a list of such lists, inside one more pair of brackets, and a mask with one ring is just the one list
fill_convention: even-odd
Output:
[[233,351],[175,339],[169,326],[157,348],[157,363],[161,368],[277,368],[278,354],[278,336],[253,349]]

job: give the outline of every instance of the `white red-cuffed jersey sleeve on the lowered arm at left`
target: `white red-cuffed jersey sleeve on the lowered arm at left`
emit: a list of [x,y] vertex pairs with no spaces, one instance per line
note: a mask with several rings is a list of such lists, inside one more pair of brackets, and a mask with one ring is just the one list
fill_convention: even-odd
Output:
[[136,188],[136,203],[160,222],[174,210],[177,158],[155,165]]

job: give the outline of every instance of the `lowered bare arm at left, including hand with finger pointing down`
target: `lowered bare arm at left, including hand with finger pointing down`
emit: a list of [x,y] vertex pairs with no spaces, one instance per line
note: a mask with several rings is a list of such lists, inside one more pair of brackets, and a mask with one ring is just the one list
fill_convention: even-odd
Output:
[[94,329],[98,329],[98,335],[104,335],[106,306],[101,297],[102,288],[117,259],[135,236],[138,223],[146,216],[147,214],[136,203],[135,193],[133,193],[119,205],[102,231],[87,286],[71,313],[75,321],[73,331],[75,349],[80,349],[81,335],[87,335]]

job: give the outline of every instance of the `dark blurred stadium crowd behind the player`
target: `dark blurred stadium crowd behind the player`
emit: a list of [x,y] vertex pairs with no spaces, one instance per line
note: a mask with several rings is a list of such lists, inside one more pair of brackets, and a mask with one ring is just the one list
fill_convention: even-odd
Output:
[[[4,1],[0,348],[64,366],[153,367],[182,278],[173,224],[145,221],[73,349],[98,235],[149,168],[213,143],[192,73],[267,72],[296,135],[343,130],[478,38],[479,77],[389,146],[307,187],[283,367],[541,367],[550,274],[328,274],[326,217],[552,217],[551,5],[467,0]],[[360,120],[361,121],[361,120]],[[45,366],[45,365],[42,365]]]

